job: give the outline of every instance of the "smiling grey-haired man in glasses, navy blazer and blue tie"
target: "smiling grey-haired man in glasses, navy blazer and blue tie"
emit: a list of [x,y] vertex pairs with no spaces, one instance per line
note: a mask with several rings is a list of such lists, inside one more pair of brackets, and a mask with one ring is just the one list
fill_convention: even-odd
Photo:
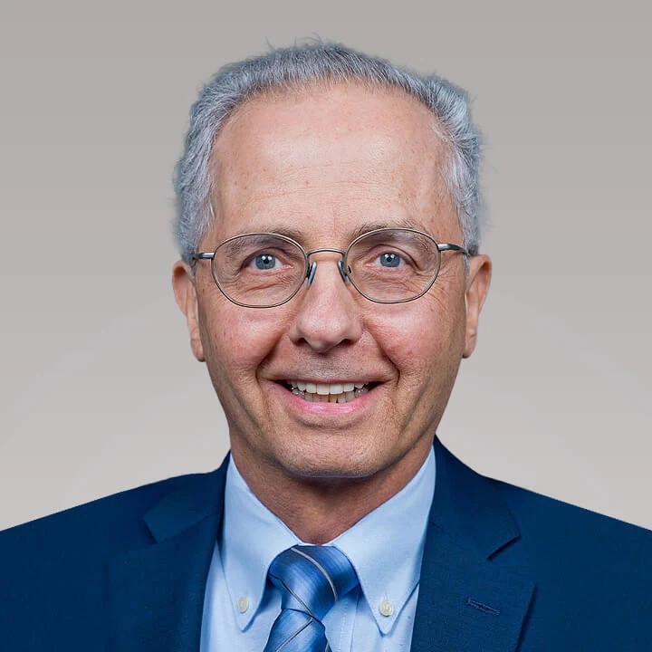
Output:
[[477,164],[461,91],[340,46],[206,86],[173,284],[231,455],[5,532],[7,649],[652,649],[650,532],[436,439],[489,287]]

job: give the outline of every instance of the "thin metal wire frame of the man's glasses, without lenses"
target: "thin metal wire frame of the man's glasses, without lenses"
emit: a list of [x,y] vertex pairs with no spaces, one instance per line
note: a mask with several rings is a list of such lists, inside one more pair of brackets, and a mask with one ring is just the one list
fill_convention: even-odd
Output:
[[[360,240],[368,237],[369,235],[376,235],[376,234],[382,234],[388,231],[396,232],[400,231],[401,233],[412,233],[416,235],[423,235],[427,237],[428,240],[433,242],[436,245],[436,250],[437,250],[437,264],[436,264],[436,270],[435,273],[433,274],[432,278],[430,281],[427,283],[426,288],[417,294],[417,296],[410,297],[409,299],[398,299],[398,300],[380,300],[380,299],[372,299],[369,295],[365,294],[365,292],[362,292],[358,285],[355,282],[355,278],[351,276],[352,270],[350,269],[350,266],[347,264],[347,257],[349,255],[349,252],[351,248],[356,245]],[[283,299],[281,302],[276,302],[276,303],[270,303],[269,305],[252,305],[251,303],[243,303],[236,301],[233,297],[229,296],[226,292],[224,287],[222,287],[222,284],[219,282],[219,279],[217,278],[216,274],[216,269],[215,269],[215,260],[216,260],[216,254],[217,250],[223,247],[224,245],[227,245],[230,242],[233,242],[234,240],[237,240],[242,237],[246,237],[248,235],[273,235],[274,237],[280,238],[281,240],[284,240],[285,242],[290,243],[291,245],[294,245],[298,247],[298,249],[302,252],[303,258],[305,259],[305,273],[302,275],[302,280],[300,283],[297,283],[296,288],[290,294],[289,297],[286,299]],[[453,251],[453,252],[459,252],[461,254],[464,254],[465,256],[470,256],[469,252],[465,249],[465,247],[460,246],[460,245],[451,245],[450,243],[438,243],[436,239],[432,235],[428,235],[427,233],[424,233],[423,231],[418,231],[417,229],[411,229],[411,228],[379,228],[379,229],[373,229],[371,231],[367,231],[361,235],[358,235],[358,237],[354,238],[354,240],[350,243],[350,245],[346,249],[334,249],[332,247],[320,247],[319,249],[311,249],[310,251],[306,251],[302,245],[300,245],[296,240],[292,240],[291,237],[288,237],[287,235],[281,235],[273,232],[254,232],[254,233],[245,233],[245,234],[238,234],[238,235],[232,235],[229,238],[226,238],[225,241],[221,242],[219,245],[216,246],[216,248],[212,252],[196,252],[195,254],[192,254],[190,256],[191,261],[192,261],[192,266],[193,269],[195,268],[195,264],[197,261],[200,260],[210,260],[211,262],[211,273],[213,275],[213,280],[215,281],[217,288],[219,289],[220,292],[222,292],[226,299],[228,299],[230,302],[235,303],[235,305],[241,306],[243,308],[276,308],[277,306],[283,305],[283,303],[289,302],[294,295],[301,290],[303,283],[307,280],[308,281],[308,287],[311,286],[312,284],[312,279],[314,278],[314,274],[317,270],[317,262],[310,260],[310,257],[312,254],[321,254],[321,252],[331,252],[333,254],[340,254],[340,260],[337,262],[338,269],[340,270],[340,276],[342,277],[342,280],[344,283],[351,283],[353,287],[368,301],[374,302],[374,303],[407,303],[411,301],[415,301],[422,297],[435,283],[436,277],[439,275],[439,270],[441,269],[441,253],[444,251]]]

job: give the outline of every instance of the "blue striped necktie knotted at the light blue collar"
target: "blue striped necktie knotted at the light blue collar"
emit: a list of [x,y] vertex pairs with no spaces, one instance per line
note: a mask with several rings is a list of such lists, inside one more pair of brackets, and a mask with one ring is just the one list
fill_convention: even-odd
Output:
[[292,546],[270,564],[269,579],[282,610],[264,652],[330,652],[321,618],[358,586],[349,558],[334,546]]

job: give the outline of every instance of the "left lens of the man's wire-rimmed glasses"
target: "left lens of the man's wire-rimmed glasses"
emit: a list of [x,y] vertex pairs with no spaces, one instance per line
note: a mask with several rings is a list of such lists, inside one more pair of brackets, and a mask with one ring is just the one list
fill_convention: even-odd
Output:
[[226,296],[266,307],[289,299],[305,277],[302,249],[279,235],[238,235],[216,250],[213,275]]

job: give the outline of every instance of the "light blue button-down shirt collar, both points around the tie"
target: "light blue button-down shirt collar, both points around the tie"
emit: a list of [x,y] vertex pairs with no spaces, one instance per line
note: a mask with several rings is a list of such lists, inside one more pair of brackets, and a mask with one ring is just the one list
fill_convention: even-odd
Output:
[[[331,542],[353,564],[383,634],[393,627],[418,584],[435,476],[435,454],[430,449],[417,475],[398,494]],[[226,471],[220,555],[235,622],[241,630],[248,627],[261,605],[274,557],[297,543],[302,542],[249,489],[232,456]],[[244,613],[239,609],[241,598],[248,603]],[[380,612],[383,600],[392,604],[389,616]]]

